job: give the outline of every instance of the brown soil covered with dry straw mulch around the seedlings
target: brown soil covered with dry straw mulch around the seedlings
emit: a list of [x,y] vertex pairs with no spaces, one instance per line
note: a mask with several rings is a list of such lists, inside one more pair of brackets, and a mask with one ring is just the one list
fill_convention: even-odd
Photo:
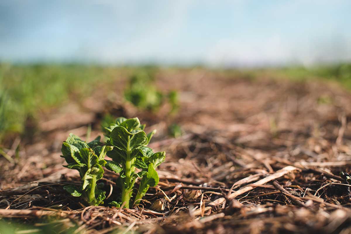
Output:
[[[16,163],[1,158],[0,216],[35,223],[58,215],[82,233],[101,234],[122,227],[150,234],[351,233],[350,190],[339,177],[351,166],[349,92],[317,81],[161,71],[158,87],[180,94],[179,113],[170,116],[167,104],[148,113],[123,102],[124,84],[42,116],[41,131],[22,140]],[[167,153],[159,185],[139,207],[85,207],[62,189],[79,180],[62,167],[62,141],[70,132],[86,139],[88,125],[91,139],[101,135],[104,113],[139,117],[158,130],[150,147]],[[171,123],[184,135],[168,137]],[[18,142],[7,151],[13,158]],[[102,180],[111,198],[119,193],[117,176],[106,171]],[[164,193],[165,210],[153,211]]]

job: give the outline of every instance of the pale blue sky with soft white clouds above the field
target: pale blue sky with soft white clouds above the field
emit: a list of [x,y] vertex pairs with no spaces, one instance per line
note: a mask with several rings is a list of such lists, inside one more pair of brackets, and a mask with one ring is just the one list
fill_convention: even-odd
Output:
[[351,1],[0,1],[0,61],[351,61]]

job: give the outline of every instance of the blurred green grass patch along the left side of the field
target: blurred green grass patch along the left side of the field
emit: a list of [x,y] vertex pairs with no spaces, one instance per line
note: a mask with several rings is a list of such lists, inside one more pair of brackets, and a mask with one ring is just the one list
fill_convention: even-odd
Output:
[[117,78],[116,68],[82,65],[0,64],[0,133],[23,133],[28,118],[98,91]]

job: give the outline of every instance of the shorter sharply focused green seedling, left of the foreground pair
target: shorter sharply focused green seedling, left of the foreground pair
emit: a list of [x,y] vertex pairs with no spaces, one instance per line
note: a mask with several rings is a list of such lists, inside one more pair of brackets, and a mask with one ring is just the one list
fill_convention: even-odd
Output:
[[102,178],[106,164],[104,160],[111,146],[101,146],[100,137],[92,142],[86,143],[78,136],[69,134],[69,137],[62,144],[61,157],[66,159],[67,168],[79,171],[82,185],[77,188],[74,185],[64,186],[64,189],[74,197],[81,197],[87,204],[98,206],[103,204],[105,191],[99,190],[97,181]]

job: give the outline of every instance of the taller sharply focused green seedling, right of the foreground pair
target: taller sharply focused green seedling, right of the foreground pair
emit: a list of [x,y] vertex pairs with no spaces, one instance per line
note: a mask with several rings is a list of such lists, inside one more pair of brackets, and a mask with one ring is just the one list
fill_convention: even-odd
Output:
[[[119,117],[114,124],[105,128],[107,145],[113,150],[107,155],[113,161],[107,161],[105,167],[119,173],[118,185],[121,188],[121,204],[129,208],[135,182],[141,179],[134,204],[139,204],[150,186],[159,182],[155,168],[165,160],[165,152],[154,153],[147,147],[156,130],[146,134],[145,124],[138,118],[126,119]],[[138,172],[136,171],[138,168]]]

